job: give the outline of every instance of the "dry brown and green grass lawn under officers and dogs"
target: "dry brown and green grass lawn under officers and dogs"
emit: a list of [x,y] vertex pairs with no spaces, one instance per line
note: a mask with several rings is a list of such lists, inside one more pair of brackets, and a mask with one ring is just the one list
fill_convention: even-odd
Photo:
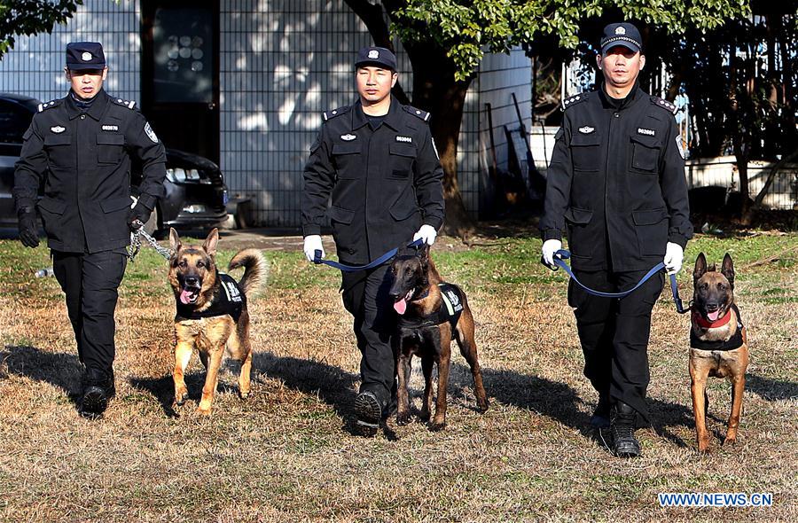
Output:
[[[445,239],[442,240],[445,242]],[[224,242],[222,242],[221,246]],[[174,298],[152,250],[129,266],[117,308],[117,397],[105,418],[76,415],[79,364],[66,308],[40,247],[0,241],[0,518],[23,521],[796,520],[796,235],[699,238],[738,261],[748,327],[739,443],[720,447],[729,387],[710,386],[713,451],[695,451],[687,374],[689,319],[662,294],[654,310],[643,457],[612,457],[588,430],[596,394],[582,376],[565,279],[537,263],[540,242],[486,242],[439,258],[465,287],[490,410],[453,357],[446,430],[351,432],[359,355],[337,274],[269,253],[270,285],[251,301],[253,394],[225,366],[211,418],[197,416],[204,373],[172,412]],[[786,253],[772,262],[759,259]],[[231,252],[220,255],[226,263]],[[680,275],[689,297],[692,266]],[[415,362],[418,366],[418,361]],[[423,386],[411,383],[416,408]],[[661,508],[660,492],[767,492],[771,507]]]

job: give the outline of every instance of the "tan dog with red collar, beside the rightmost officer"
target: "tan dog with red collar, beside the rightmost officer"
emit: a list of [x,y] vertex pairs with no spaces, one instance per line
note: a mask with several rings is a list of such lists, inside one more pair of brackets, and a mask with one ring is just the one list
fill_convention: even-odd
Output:
[[746,386],[748,346],[746,328],[734,303],[734,265],[724,256],[720,272],[707,267],[699,254],[692,271],[693,294],[690,332],[690,379],[695,433],[700,452],[709,450],[707,431],[707,378],[732,381],[732,414],[724,445],[737,441],[743,389]]

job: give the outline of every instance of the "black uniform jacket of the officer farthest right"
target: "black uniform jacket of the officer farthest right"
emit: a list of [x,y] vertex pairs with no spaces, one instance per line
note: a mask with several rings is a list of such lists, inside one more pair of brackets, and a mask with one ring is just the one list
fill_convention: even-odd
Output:
[[564,101],[546,182],[544,240],[567,227],[575,269],[647,270],[692,237],[677,108],[637,86]]

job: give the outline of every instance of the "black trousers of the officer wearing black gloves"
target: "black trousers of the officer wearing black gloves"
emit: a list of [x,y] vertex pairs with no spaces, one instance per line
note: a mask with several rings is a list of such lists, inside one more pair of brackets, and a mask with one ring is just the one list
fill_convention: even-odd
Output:
[[115,355],[113,312],[128,258],[121,251],[51,254],[52,270],[66,294],[66,311],[86,378],[110,379]]

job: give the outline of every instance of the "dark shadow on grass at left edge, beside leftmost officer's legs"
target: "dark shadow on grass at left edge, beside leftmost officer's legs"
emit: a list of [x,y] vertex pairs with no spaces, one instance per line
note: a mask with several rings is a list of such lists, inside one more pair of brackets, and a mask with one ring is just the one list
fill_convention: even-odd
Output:
[[45,352],[26,345],[6,345],[0,352],[0,379],[9,374],[43,381],[62,389],[77,409],[81,397],[81,362],[77,355]]

